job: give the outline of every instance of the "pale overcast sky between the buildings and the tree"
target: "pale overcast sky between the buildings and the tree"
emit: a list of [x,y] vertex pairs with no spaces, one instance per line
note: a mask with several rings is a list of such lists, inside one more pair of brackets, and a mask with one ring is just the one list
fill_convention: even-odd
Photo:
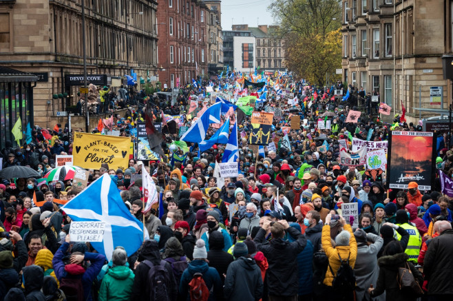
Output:
[[[272,0],[222,0],[222,30],[231,30],[232,24],[249,24],[257,27],[272,25],[271,12],[267,8]],[[231,20],[233,18],[233,20]]]

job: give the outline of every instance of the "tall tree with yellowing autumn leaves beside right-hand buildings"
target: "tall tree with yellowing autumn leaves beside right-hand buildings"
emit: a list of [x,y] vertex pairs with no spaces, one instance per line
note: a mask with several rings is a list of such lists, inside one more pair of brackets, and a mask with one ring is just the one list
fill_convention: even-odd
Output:
[[269,9],[280,23],[288,70],[317,85],[341,79],[341,0],[274,0]]

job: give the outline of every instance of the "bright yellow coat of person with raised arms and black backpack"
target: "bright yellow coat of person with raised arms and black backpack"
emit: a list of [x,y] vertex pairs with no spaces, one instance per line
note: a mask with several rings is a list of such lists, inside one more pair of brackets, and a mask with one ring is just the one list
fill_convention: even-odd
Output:
[[343,260],[348,259],[349,256],[350,267],[354,269],[355,266],[355,260],[357,258],[357,242],[355,241],[354,233],[352,233],[350,225],[345,225],[344,229],[346,231],[349,231],[350,233],[349,245],[337,246],[334,248],[332,247],[332,242],[330,242],[330,226],[325,225],[324,227],[322,227],[321,236],[322,248],[324,249],[324,252],[326,252],[326,256],[329,260],[330,267],[332,267],[332,270],[335,273],[335,275],[332,275],[332,272],[327,267],[326,277],[324,278],[324,284],[328,285],[329,287],[332,286],[333,278],[337,276],[337,271],[341,266],[341,262],[338,258],[338,253],[339,256],[341,256],[341,259]]

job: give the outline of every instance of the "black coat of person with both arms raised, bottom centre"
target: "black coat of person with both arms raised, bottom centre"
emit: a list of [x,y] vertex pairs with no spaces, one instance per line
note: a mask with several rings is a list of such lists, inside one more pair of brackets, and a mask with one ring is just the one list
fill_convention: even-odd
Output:
[[299,287],[297,254],[304,250],[307,239],[293,227],[289,227],[286,231],[296,239],[295,242],[273,238],[269,244],[264,244],[266,242],[266,231],[264,229],[258,231],[254,240],[257,250],[264,253],[269,264],[266,271],[269,295],[297,295]]

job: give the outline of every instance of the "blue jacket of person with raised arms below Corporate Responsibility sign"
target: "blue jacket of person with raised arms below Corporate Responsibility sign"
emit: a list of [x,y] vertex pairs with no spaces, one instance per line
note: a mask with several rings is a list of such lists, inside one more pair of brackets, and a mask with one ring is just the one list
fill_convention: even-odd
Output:
[[[71,276],[65,271],[65,264],[63,263],[63,257],[65,257],[67,248],[70,246],[69,243],[63,242],[63,245],[56,251],[52,264],[54,265],[54,272],[56,278],[61,281],[61,278],[76,278],[77,276]],[[92,284],[98,273],[101,271],[103,264],[105,263],[105,256],[98,253],[85,252],[85,260],[89,260],[91,265],[83,273],[82,284],[83,284],[83,298],[84,300],[92,300]]]

